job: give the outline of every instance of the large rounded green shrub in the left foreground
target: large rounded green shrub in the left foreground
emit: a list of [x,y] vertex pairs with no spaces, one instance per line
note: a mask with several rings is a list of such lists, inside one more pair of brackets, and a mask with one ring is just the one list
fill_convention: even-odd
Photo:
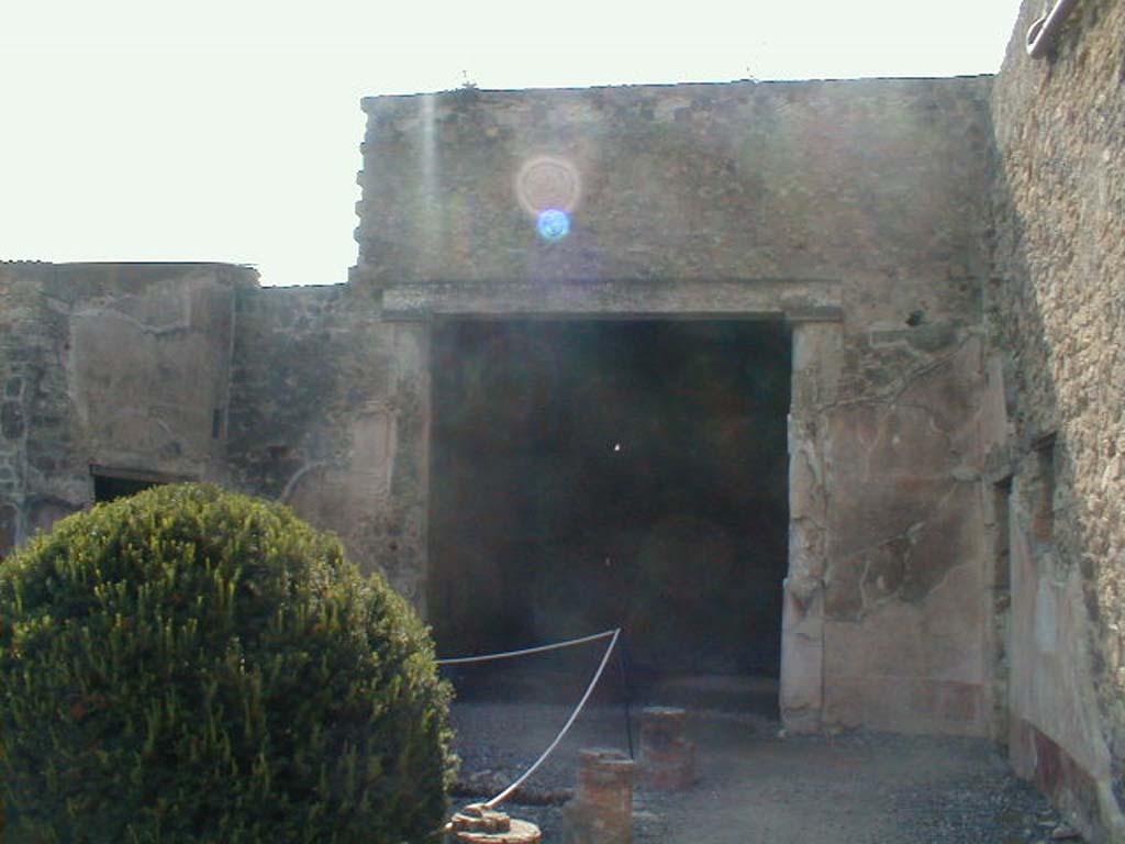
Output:
[[10,842],[425,841],[448,703],[406,603],[279,505],[164,486],[0,564]]

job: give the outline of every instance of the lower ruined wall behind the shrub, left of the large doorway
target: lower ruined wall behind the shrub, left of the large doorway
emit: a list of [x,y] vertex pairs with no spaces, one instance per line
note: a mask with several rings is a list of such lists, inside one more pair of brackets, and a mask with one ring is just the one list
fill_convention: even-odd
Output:
[[428,331],[225,264],[0,264],[0,554],[92,473],[291,504],[421,607]]

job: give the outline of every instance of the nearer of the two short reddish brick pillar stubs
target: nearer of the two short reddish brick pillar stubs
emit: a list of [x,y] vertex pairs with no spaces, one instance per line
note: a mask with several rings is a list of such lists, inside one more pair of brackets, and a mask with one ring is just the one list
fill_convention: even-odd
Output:
[[618,751],[583,751],[578,789],[567,803],[567,844],[632,844],[636,765]]

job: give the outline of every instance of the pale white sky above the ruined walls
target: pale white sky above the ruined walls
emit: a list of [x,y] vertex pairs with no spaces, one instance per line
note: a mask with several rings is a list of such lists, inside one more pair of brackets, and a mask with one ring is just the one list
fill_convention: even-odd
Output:
[[[0,260],[356,262],[366,95],[1000,66],[1019,0],[3,0]],[[667,11],[662,11],[662,9]]]

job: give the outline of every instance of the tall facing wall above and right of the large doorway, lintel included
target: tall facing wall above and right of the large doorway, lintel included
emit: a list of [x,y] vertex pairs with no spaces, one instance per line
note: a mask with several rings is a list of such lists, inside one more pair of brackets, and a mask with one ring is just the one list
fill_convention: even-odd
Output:
[[[992,729],[980,500],[990,81],[364,100],[361,289],[443,315],[793,325],[782,707]],[[541,236],[538,224],[569,232]]]

